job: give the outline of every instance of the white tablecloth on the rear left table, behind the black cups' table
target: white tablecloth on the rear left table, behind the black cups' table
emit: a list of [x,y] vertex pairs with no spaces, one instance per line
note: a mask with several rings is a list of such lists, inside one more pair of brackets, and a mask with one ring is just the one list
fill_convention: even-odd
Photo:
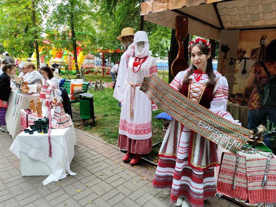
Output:
[[35,102],[39,98],[39,94],[30,93],[30,94],[22,94],[17,91],[12,91],[9,95],[9,105],[7,108],[7,112],[5,114],[5,121],[7,125],[7,130],[9,134],[12,135],[13,139],[16,137],[16,133],[14,132],[15,126],[20,127],[20,113],[19,113],[19,121],[18,120],[18,112],[20,109],[29,108],[30,100],[34,99]]

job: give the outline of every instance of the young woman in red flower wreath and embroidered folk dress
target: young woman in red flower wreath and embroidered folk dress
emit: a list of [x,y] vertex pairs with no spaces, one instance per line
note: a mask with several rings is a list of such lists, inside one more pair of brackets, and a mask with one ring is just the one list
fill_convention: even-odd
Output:
[[[212,67],[211,46],[205,39],[191,41],[192,65],[179,72],[170,86],[194,102],[234,122],[226,112],[228,83]],[[171,188],[176,206],[203,207],[216,193],[214,167],[219,166],[216,145],[175,119],[170,122],[159,152],[154,188]]]

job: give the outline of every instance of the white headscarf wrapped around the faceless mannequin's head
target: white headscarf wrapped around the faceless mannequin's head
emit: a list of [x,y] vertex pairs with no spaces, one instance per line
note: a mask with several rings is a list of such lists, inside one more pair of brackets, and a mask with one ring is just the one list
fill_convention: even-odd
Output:
[[[138,51],[137,43],[141,42],[141,41],[144,42],[144,48],[143,48],[142,52],[140,53]],[[128,47],[126,54],[128,54],[131,57],[136,56],[137,58],[142,59],[149,55],[149,51],[150,51],[150,45],[149,45],[147,33],[144,31],[137,31],[134,34],[133,43]]]

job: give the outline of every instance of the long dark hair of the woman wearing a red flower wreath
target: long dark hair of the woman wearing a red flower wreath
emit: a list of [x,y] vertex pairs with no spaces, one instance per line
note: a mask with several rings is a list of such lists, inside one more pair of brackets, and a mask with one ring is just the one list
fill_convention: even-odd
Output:
[[[197,45],[199,47],[199,49],[203,52],[203,54],[208,55],[210,52],[210,49],[207,48],[205,45],[200,44],[200,43],[194,43],[191,45],[190,50],[189,50],[189,57],[191,58],[191,50],[194,47],[194,45]],[[196,66],[194,66],[193,64],[191,64],[190,66],[190,70],[187,73],[187,75],[184,77],[183,82],[186,84],[189,84],[189,77],[194,73],[194,70],[197,70]],[[207,70],[206,73],[209,77],[209,81],[207,84],[215,84],[216,82],[216,75],[214,73],[213,70],[213,65],[212,65],[212,55],[209,57],[209,59],[207,60]]]

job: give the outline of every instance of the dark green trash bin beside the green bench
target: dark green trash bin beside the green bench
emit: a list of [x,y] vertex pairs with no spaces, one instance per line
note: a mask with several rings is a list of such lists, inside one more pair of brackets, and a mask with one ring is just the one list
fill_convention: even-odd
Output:
[[80,96],[80,116],[82,121],[93,119],[93,127],[95,127],[94,102],[93,94],[81,93]]

